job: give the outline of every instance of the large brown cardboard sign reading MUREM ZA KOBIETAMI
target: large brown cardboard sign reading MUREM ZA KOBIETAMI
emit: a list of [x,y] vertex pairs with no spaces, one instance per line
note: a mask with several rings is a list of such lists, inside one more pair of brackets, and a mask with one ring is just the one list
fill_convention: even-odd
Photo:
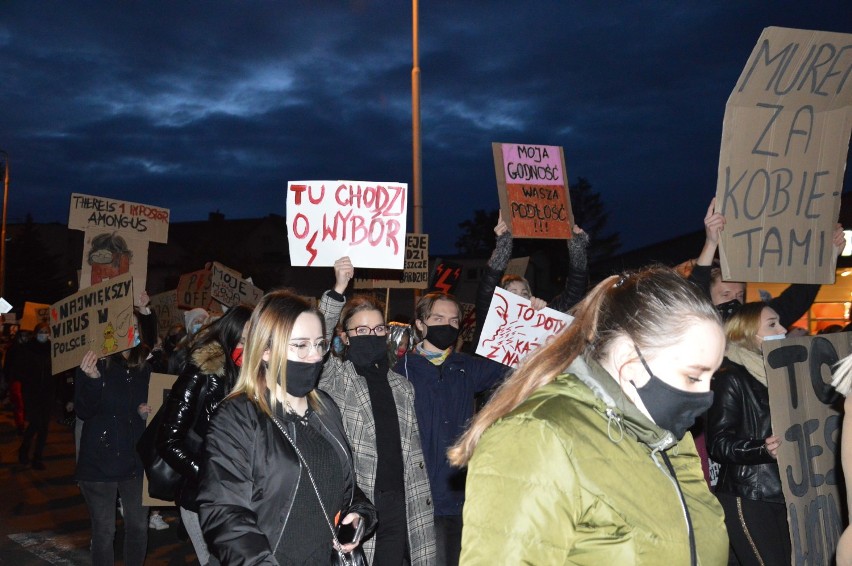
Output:
[[770,27],[728,98],[716,211],[727,280],[833,283],[852,35]]

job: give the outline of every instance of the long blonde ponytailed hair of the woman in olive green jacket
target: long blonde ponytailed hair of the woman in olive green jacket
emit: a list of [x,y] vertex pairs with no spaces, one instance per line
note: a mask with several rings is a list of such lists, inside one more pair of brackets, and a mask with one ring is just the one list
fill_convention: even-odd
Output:
[[600,361],[620,336],[630,337],[643,352],[661,350],[680,339],[697,320],[715,322],[721,328],[719,314],[706,295],[663,266],[604,279],[571,314],[574,322],[518,366],[449,449],[453,465],[467,464],[489,426],[565,373],[577,356]]

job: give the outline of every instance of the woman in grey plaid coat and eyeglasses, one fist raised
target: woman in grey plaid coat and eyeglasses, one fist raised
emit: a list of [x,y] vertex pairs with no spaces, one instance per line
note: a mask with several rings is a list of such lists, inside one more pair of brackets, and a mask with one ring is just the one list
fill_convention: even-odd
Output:
[[319,387],[334,399],[352,444],[358,486],[376,505],[376,536],[364,542],[373,566],[434,564],[429,478],[414,413],[414,388],[392,371],[388,326],[373,297],[343,295],[355,269],[334,263],[335,285],[320,300],[326,338],[336,329],[342,357],[329,356]]

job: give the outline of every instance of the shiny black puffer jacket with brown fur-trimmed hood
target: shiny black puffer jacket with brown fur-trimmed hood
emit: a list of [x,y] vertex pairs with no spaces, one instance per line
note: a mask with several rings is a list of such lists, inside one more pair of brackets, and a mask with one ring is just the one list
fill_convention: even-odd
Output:
[[207,436],[213,411],[231,391],[234,378],[227,375],[222,346],[211,342],[192,351],[169,393],[157,433],[157,450],[184,477],[177,496],[177,504],[184,509],[198,511],[195,495],[201,440]]

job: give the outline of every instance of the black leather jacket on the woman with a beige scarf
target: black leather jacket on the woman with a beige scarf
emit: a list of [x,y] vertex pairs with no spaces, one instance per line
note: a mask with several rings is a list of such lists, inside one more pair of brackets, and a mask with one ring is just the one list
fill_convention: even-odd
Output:
[[765,448],[772,436],[769,390],[728,358],[713,377],[712,389],[707,452],[721,464],[716,492],[783,504],[778,462]]

